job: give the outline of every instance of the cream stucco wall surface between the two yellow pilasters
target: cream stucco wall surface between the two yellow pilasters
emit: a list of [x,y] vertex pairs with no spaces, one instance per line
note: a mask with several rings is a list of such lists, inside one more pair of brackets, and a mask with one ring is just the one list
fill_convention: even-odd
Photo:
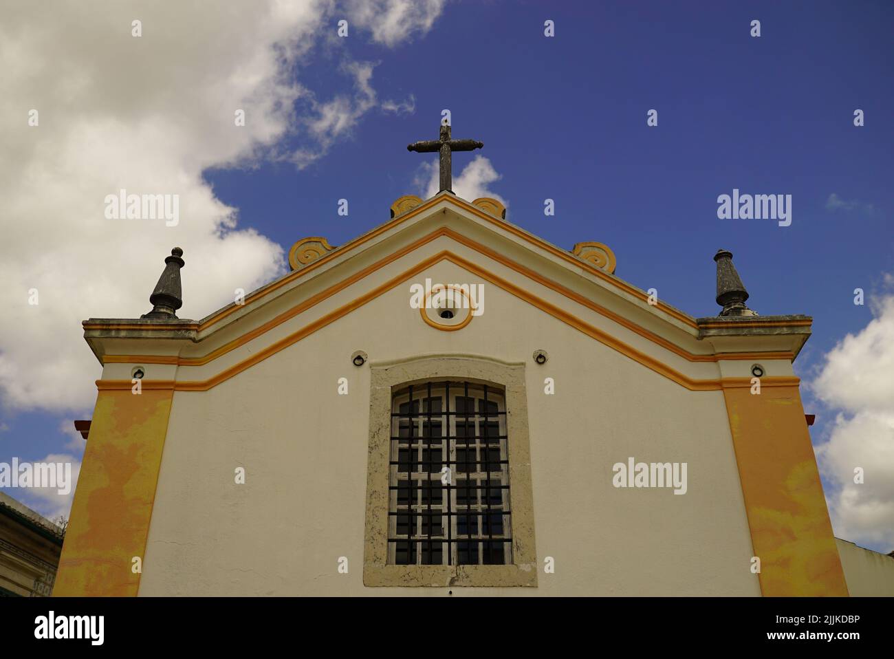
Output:
[[[264,341],[400,270],[398,262],[370,275]],[[426,276],[481,281],[448,262],[411,281]],[[537,293],[626,332],[553,291]],[[278,300],[269,314],[288,304]],[[657,350],[630,333],[624,340]],[[549,353],[544,366],[531,359],[536,349]],[[372,361],[458,352],[527,364],[536,552],[541,566],[554,558],[555,573],[541,567],[539,587],[495,592],[760,595],[720,391],[687,391],[489,283],[482,316],[458,332],[438,331],[409,308],[409,282],[207,392],[174,393],[140,595],[446,595],[447,588],[362,584],[369,369],[350,364],[357,350]],[[180,367],[177,377],[211,376],[253,351],[252,342],[206,366]],[[690,376],[719,374],[713,363],[666,360]],[[544,394],[547,376],[554,395]],[[340,377],[349,380],[347,396],[337,393]],[[630,456],[687,462],[687,494],[614,488],[611,467]],[[234,483],[237,467],[246,469],[245,485]],[[349,559],[348,574],[337,571],[340,556]]]

